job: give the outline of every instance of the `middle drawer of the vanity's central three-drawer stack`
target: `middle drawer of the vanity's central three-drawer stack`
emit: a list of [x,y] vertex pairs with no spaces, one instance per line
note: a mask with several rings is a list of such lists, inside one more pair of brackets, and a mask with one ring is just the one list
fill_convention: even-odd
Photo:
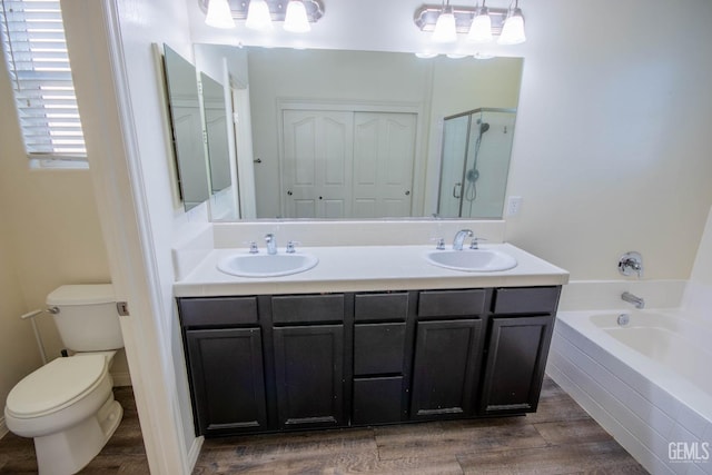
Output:
[[356,325],[354,374],[403,373],[405,324]]

